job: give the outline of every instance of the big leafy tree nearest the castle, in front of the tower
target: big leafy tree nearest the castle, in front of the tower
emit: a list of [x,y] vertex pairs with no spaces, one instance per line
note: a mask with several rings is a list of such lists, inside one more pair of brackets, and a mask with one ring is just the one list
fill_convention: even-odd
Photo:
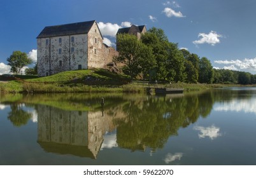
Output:
[[131,79],[140,73],[144,78],[148,78],[150,71],[155,67],[152,48],[131,34],[118,34],[117,43],[119,55],[115,60],[124,64],[125,74],[131,76]]

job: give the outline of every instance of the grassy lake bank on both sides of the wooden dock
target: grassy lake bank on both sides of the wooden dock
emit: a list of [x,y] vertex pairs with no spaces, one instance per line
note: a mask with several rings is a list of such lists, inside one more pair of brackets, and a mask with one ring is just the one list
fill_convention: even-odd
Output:
[[[161,85],[158,85],[159,87]],[[241,85],[208,85],[172,83],[163,85],[172,88],[184,88],[185,92]],[[145,87],[129,83],[129,76],[114,74],[103,69],[60,72],[52,76],[15,76],[1,79],[1,93],[72,93],[72,92],[134,92],[143,93]]]

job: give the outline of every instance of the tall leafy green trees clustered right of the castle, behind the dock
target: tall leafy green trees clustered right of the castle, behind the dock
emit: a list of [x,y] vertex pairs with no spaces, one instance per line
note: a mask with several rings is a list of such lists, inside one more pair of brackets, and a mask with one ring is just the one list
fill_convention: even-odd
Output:
[[212,83],[213,67],[208,58],[199,58],[187,50],[179,50],[177,43],[168,41],[162,29],[153,27],[141,36],[119,34],[117,62],[124,64],[123,71],[132,79],[150,81],[183,81]]

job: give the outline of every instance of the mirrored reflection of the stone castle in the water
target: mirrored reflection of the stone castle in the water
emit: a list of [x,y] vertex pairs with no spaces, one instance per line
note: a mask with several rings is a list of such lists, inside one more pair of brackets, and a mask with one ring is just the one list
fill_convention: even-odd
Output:
[[103,135],[113,130],[102,111],[64,111],[39,105],[38,143],[46,152],[96,158]]

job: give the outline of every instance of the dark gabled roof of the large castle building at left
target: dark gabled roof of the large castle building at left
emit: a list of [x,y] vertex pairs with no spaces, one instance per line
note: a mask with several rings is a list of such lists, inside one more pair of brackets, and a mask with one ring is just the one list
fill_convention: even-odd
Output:
[[88,22],[78,22],[74,24],[64,24],[64,25],[55,25],[48,26],[41,31],[37,38],[49,38],[53,36],[67,36],[73,34],[87,34],[92,25],[96,20]]

